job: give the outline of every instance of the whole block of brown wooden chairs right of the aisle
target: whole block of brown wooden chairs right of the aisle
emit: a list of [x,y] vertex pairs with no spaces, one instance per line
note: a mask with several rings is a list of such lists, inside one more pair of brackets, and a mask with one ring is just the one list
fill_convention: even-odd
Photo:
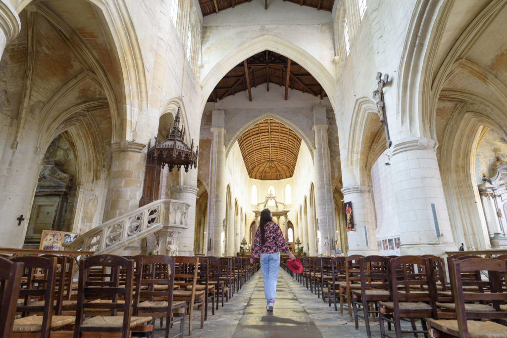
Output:
[[[368,336],[371,336],[369,317],[379,318],[382,336],[387,336],[385,323],[389,330],[394,325],[397,337],[402,332],[427,334],[428,326],[434,336],[468,336],[466,325],[463,324],[467,318],[507,320],[505,271],[501,270],[505,269],[506,259],[504,256],[489,261],[466,255],[450,257],[448,282],[445,260],[431,255],[308,257],[302,260],[304,271],[296,278],[315,292],[317,297],[321,293],[323,301],[327,298],[330,306],[333,298],[335,310],[339,297],[341,315],[347,303],[351,320],[354,314],[356,329],[358,318],[363,318]],[[461,262],[467,262],[466,267]],[[481,270],[482,273],[488,271],[486,280],[481,279]],[[461,297],[459,290],[466,297]],[[463,309],[470,311],[471,317],[467,317],[466,311],[458,310],[463,306]],[[442,318],[444,321],[439,320]],[[410,322],[411,329],[402,330],[403,320]],[[416,326],[416,320],[421,321],[420,329]],[[500,323],[473,321],[470,325],[474,332],[480,327],[482,336],[488,336],[484,332],[491,331],[492,336],[496,337],[498,330],[504,332],[499,336],[507,336],[507,328]]]

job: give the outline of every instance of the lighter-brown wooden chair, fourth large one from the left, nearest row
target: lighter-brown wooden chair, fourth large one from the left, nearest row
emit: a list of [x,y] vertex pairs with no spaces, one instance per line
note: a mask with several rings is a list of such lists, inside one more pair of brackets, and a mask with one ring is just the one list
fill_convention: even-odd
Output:
[[[194,318],[201,319],[201,328],[204,325],[204,302],[205,302],[205,291],[196,290],[197,278],[199,272],[199,258],[193,257],[175,257],[175,272],[174,280],[178,280],[180,288],[173,292],[174,301],[184,301],[187,304],[187,313],[189,314],[189,335],[192,335],[192,320]],[[186,287],[191,286],[190,290]],[[194,308],[201,308],[200,315],[194,317]]]

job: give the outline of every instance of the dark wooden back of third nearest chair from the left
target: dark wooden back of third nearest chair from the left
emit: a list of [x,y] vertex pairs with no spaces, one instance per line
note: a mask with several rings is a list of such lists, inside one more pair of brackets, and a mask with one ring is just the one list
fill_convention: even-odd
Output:
[[[121,270],[125,271],[124,283],[120,282]],[[121,256],[97,255],[80,261],[76,336],[80,336],[83,331],[121,332],[122,338],[130,336],[133,270],[134,261]],[[93,302],[96,299],[107,302]],[[123,311],[123,325],[121,327],[82,327],[87,309],[106,309],[108,311],[105,314],[109,316],[116,316],[118,311]]]

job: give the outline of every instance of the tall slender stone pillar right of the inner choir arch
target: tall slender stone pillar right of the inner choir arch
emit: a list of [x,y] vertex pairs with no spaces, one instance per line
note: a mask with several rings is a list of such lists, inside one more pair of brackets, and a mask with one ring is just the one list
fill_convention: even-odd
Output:
[[331,158],[328,142],[328,119],[325,107],[313,108],[313,131],[315,133],[314,171],[315,171],[315,211],[320,233],[318,252],[325,252],[325,237],[335,241],[335,205],[333,184],[331,182]]

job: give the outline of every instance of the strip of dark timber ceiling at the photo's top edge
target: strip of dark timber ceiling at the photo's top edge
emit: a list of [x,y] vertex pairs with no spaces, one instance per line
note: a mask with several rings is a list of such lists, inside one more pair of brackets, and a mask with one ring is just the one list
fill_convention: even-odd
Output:
[[[220,11],[228,8],[233,8],[238,5],[246,4],[252,0],[199,0],[201,5],[202,16],[210,15],[213,13],[219,13]],[[279,0],[276,0],[279,1]],[[323,10],[331,12],[333,11],[333,5],[335,0],[283,0],[284,2],[298,4],[300,6],[312,7],[317,10]],[[269,9],[268,0],[264,0],[264,9]]]

